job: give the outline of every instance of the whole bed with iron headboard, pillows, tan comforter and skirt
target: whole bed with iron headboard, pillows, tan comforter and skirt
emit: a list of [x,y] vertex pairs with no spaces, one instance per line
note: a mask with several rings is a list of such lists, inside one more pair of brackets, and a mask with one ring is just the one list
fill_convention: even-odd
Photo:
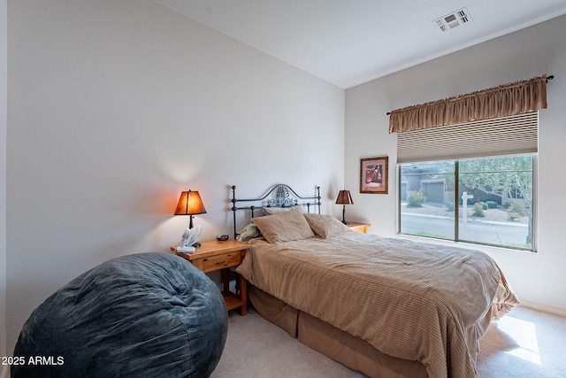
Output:
[[263,205],[239,206],[254,199],[233,187],[234,232],[235,213],[252,213],[235,235],[250,243],[237,272],[251,305],[371,377],[475,376],[479,339],[519,304],[499,266],[481,251],[354,232],[320,214],[319,190],[277,185]]

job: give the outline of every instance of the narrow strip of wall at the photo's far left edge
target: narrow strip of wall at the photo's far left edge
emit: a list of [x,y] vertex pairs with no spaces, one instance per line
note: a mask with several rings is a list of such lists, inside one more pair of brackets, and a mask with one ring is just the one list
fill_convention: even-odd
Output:
[[[0,0],[0,356],[6,356],[6,108],[7,13]],[[0,368],[0,376],[2,369]]]

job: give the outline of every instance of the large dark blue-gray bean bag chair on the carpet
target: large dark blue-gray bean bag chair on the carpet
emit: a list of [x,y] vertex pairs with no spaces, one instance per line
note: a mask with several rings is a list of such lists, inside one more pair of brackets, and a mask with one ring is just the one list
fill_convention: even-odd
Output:
[[184,258],[114,258],[34,310],[13,353],[25,364],[11,377],[208,377],[227,321],[217,285]]

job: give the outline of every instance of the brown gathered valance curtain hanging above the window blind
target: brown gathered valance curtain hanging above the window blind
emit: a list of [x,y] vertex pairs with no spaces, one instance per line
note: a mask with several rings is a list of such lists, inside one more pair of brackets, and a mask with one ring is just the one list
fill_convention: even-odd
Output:
[[547,75],[397,109],[389,116],[389,133],[508,117],[547,107]]

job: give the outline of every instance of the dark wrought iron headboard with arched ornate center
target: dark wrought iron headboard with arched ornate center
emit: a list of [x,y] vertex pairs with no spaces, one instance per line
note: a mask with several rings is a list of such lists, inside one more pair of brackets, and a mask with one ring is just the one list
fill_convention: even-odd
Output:
[[[270,198],[268,198],[270,197]],[[266,199],[268,198],[268,199]],[[307,201],[307,202],[300,202]],[[248,206],[238,206],[239,202],[248,203],[259,203],[250,204]],[[301,197],[294,192],[291,187],[286,184],[274,185],[271,189],[267,191],[264,197],[260,198],[249,198],[249,199],[236,199],[236,186],[232,186],[232,212],[233,212],[233,237],[234,239],[238,235],[238,228],[236,227],[236,211],[238,210],[249,210],[251,212],[251,218],[254,218],[254,212],[256,210],[261,210],[263,207],[292,207],[292,206],[307,206],[307,212],[311,211],[313,207],[313,212],[315,206],[317,207],[317,212],[320,213],[320,187],[317,187],[317,194],[313,197]]]

